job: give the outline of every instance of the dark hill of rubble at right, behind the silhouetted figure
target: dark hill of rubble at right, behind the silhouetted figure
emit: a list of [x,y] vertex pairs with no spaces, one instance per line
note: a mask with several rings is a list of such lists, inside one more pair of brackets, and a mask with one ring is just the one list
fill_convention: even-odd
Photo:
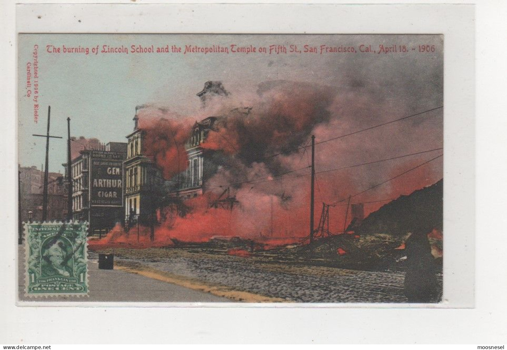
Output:
[[[337,266],[354,269],[403,269],[404,246],[409,232],[418,227],[440,231],[442,220],[443,180],[440,180],[382,206],[359,224],[349,225],[346,234],[301,246],[298,255],[331,260]],[[442,249],[441,239],[436,242],[430,238],[430,243],[432,247]]]

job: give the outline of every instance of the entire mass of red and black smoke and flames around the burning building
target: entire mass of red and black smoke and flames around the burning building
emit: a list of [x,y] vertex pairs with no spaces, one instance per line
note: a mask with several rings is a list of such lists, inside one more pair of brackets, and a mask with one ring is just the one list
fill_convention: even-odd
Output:
[[[261,85],[257,95],[221,99],[219,105],[208,107],[198,116],[182,117],[155,107],[141,109],[139,127],[146,132],[143,152],[154,157],[166,179],[174,179],[178,171],[187,168],[184,147],[192,125],[207,116],[219,117],[201,145],[209,150],[205,161],[213,165],[213,171],[204,179],[205,195],[185,201],[189,208],[186,216],[157,225],[154,242],[149,241],[149,228],[141,227],[139,243],[137,235],[132,233],[136,233],[136,228],[132,228],[128,234],[116,229],[102,241],[90,244],[163,246],[172,244],[171,239],[203,242],[214,236],[241,237],[266,247],[276,242],[298,242],[309,235],[310,148],[304,146],[310,144],[312,134],[317,143],[314,227],[318,226],[324,202],[332,204],[330,230],[340,233],[345,216],[346,224],[352,219],[350,208],[346,212],[349,196],[441,154],[436,151],[333,170],[441,145],[442,120],[435,116],[421,119],[419,124],[403,121],[319,143],[413,112],[393,108],[392,104],[368,95],[340,95],[327,87],[273,82]],[[283,154],[271,157],[280,152]],[[277,176],[294,169],[301,170]],[[442,158],[354,196],[350,203],[409,195],[441,178]],[[210,208],[228,187],[228,195],[235,196],[239,203],[233,210],[220,206]],[[386,203],[365,204],[365,215]]]

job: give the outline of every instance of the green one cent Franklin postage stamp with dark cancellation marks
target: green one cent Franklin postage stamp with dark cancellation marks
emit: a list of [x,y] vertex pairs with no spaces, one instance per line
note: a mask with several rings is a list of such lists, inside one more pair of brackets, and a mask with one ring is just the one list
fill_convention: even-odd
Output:
[[25,223],[25,293],[87,295],[86,222]]

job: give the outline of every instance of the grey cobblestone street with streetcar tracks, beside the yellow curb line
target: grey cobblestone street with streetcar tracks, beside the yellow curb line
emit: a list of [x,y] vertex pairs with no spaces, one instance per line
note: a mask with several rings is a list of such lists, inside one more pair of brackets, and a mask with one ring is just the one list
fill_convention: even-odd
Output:
[[[152,268],[171,273],[177,273],[174,267],[170,267],[171,265],[183,263],[188,265],[190,276],[187,276],[185,273],[182,276],[192,277],[203,282],[207,281],[207,283],[221,281],[220,283],[238,290],[278,296],[295,302],[298,302],[298,300],[303,302],[305,300],[307,302],[367,302],[368,300],[377,300],[374,302],[406,302],[403,287],[378,284],[374,283],[375,281],[354,281],[347,278],[309,275],[265,267],[254,267],[242,261],[228,261],[226,264],[217,265],[213,259],[178,258],[176,261],[173,261],[171,258],[164,258],[156,259],[156,261],[139,261],[138,259],[127,258],[126,260],[136,260],[137,262],[146,263]],[[180,270],[178,268],[178,270],[179,272],[183,272],[185,269]],[[392,276],[389,274],[371,274],[370,271],[357,272],[363,272],[364,274],[360,278],[364,279],[378,279],[375,275]],[[242,276],[243,282],[235,280],[235,275]],[[360,274],[358,275],[360,276]],[[395,281],[393,282],[396,283],[399,277],[401,276],[395,277]],[[232,280],[230,280],[231,278]],[[256,281],[261,280],[263,283],[269,280],[276,281],[275,285],[281,286],[281,289],[268,288],[263,291],[263,288],[266,288],[269,284],[258,289],[258,287],[256,287]],[[305,296],[305,290],[318,291],[318,294],[313,297]],[[368,297],[368,295],[370,295],[370,297]],[[377,295],[377,297],[374,295]],[[329,296],[329,298],[327,296]],[[311,301],[309,301],[310,299]]]

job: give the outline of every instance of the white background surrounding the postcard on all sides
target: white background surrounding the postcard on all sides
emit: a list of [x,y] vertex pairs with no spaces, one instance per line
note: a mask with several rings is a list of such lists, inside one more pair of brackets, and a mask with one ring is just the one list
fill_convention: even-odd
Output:
[[[81,1],[82,3],[85,1]],[[102,3],[93,0],[87,3]],[[407,3],[408,1],[404,1]],[[43,1],[32,3],[45,3]],[[70,2],[67,2],[70,3]],[[105,2],[103,2],[105,3]],[[466,309],[406,308],[77,308],[16,307],[14,252],[17,251],[15,126],[16,27],[14,1],[0,5],[3,15],[1,105],[5,115],[0,151],[4,226],[0,247],[2,304],[0,343],[160,343],[160,342],[337,342],[337,343],[505,343],[507,340],[507,264],[505,259],[505,36],[507,6],[482,1],[476,6],[476,102],[469,41],[470,24],[457,6],[308,6],[296,8],[221,6],[160,10],[141,8],[137,0],[116,8],[81,12],[82,6],[25,15],[18,28],[30,31],[80,32],[337,32],[447,33],[445,38],[445,226],[462,232],[446,236],[446,273],[449,263],[457,276],[445,297],[454,306],[470,306],[470,276],[474,270],[475,307]],[[355,3],[348,1],[347,3]],[[396,2],[394,2],[396,3]],[[401,3],[401,2],[397,2]],[[411,2],[413,3],[413,2]],[[435,3],[436,1],[426,1]],[[454,3],[454,2],[448,2]],[[133,10],[130,16],[125,12]],[[31,10],[30,10],[31,11]],[[46,11],[46,10],[45,10]],[[69,11],[69,12],[67,12]],[[73,17],[78,12],[81,22]],[[139,13],[142,15],[139,16]],[[65,13],[67,13],[65,15]],[[69,15],[73,13],[73,15]],[[121,13],[121,16],[118,14]],[[235,13],[235,15],[232,15]],[[202,17],[201,17],[202,16]],[[211,16],[211,17],[209,17]],[[179,20],[179,21],[178,21]],[[27,21],[27,22],[24,22]],[[133,22],[136,22],[134,25]],[[92,24],[98,30],[92,29]],[[66,28],[62,30],[61,28]],[[107,30],[104,30],[107,28]],[[453,43],[454,41],[454,43]],[[453,46],[454,44],[454,46]],[[469,74],[464,74],[467,69]],[[472,94],[470,94],[472,93]],[[475,109],[475,111],[474,111]],[[477,163],[474,165],[474,112]],[[471,153],[470,153],[471,152]],[[450,157],[453,155],[453,157]],[[472,155],[472,157],[471,157]],[[449,163],[451,161],[451,163]],[[477,178],[474,179],[474,169]],[[474,181],[477,196],[474,199]],[[474,201],[477,222],[474,222]],[[448,203],[455,205],[449,207]],[[452,217],[451,222],[447,218]],[[475,226],[475,227],[474,227]],[[449,229],[450,228],[450,229]],[[463,241],[464,239],[464,241]],[[453,245],[453,242],[455,243]],[[459,247],[459,249],[458,249]],[[462,263],[464,266],[452,264]],[[468,263],[468,265],[466,265]],[[446,275],[446,279],[448,276]],[[468,279],[468,280],[467,280]],[[448,294],[450,293],[450,294]]]

